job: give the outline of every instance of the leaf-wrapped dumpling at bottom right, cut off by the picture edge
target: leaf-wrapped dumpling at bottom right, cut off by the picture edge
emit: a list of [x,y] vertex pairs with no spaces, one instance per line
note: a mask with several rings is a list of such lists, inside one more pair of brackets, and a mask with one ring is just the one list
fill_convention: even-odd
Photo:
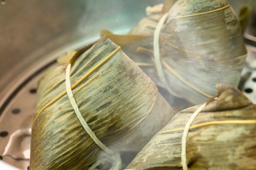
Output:
[[255,170],[256,106],[230,85],[177,113],[129,164],[130,170]]

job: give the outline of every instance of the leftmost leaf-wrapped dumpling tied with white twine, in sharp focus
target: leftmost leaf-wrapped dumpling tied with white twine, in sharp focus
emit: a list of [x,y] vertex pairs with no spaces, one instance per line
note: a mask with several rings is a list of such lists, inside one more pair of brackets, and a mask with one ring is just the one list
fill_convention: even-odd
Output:
[[95,169],[104,161],[119,170],[122,155],[137,154],[174,115],[152,80],[106,36],[40,80],[36,113],[30,170]]

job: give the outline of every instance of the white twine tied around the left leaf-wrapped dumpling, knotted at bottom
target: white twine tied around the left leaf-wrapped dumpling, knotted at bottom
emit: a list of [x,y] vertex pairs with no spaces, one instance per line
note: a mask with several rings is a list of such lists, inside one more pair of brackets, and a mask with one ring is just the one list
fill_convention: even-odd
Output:
[[[114,152],[110,150],[107,146],[105,146],[95,135],[95,133],[90,129],[86,121],[83,119],[83,116],[81,115],[79,108],[76,104],[76,100],[74,98],[74,95],[72,93],[72,88],[71,88],[71,82],[70,82],[70,69],[71,69],[71,64],[67,65],[66,69],[66,90],[67,90],[67,95],[68,98],[70,99],[70,104],[72,105],[76,116],[78,117],[81,125],[85,129],[85,131],[88,133],[88,135],[92,138],[95,144],[97,144],[103,151],[109,154],[109,156],[113,157],[114,163],[112,163],[112,167],[110,170],[120,170],[121,169],[121,157],[118,152]],[[98,161],[96,161],[90,168],[89,170],[94,170],[96,169],[97,166],[99,166],[102,162],[106,161],[106,159],[102,158]]]

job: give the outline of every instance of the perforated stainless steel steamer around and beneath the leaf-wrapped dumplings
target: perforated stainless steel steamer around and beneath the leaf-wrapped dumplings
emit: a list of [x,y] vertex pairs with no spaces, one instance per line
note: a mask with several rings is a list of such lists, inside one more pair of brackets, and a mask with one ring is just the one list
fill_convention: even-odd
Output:
[[[97,40],[100,29],[127,33],[146,15],[147,6],[162,2],[0,0],[0,159],[4,161],[0,161],[1,170],[29,167],[36,87],[38,79],[56,65],[56,58]],[[228,2],[238,13],[249,0]],[[240,88],[256,103],[254,36],[245,32],[248,57]]]

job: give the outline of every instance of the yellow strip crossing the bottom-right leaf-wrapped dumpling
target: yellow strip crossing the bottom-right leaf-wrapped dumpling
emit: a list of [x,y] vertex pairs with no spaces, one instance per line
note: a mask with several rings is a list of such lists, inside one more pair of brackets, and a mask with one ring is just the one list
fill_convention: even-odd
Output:
[[[202,123],[202,124],[197,124],[197,125],[190,126],[189,129],[199,128],[199,127],[209,126],[209,125],[218,125],[218,124],[256,124],[256,119],[253,119],[253,120],[210,121],[210,122],[205,122],[205,123]],[[170,129],[170,130],[163,130],[163,131],[158,132],[156,135],[159,135],[159,134],[162,134],[162,133],[168,133],[168,132],[175,132],[175,131],[179,131],[179,130],[184,130],[184,128],[176,128],[176,129]]]

